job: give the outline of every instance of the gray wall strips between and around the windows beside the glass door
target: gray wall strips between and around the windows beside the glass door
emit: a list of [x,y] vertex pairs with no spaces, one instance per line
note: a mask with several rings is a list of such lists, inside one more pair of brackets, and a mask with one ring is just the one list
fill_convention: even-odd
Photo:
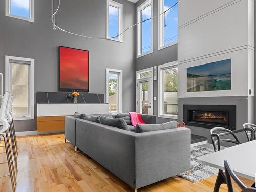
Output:
[[[144,1],[140,0],[136,3],[136,7],[140,6]],[[158,1],[153,1],[153,15],[158,14]],[[158,50],[158,18],[153,20],[153,53],[136,58],[136,71],[159,66],[164,63],[176,61],[178,58],[177,44]],[[153,96],[156,100],[153,101],[154,115],[158,116],[158,80],[153,83]],[[156,123],[164,123],[171,121],[167,118],[156,118]]]

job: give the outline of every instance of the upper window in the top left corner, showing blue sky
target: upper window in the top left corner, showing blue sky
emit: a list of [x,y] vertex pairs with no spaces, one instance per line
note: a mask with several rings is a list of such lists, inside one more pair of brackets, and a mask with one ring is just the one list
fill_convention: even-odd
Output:
[[34,0],[6,0],[5,15],[34,22]]

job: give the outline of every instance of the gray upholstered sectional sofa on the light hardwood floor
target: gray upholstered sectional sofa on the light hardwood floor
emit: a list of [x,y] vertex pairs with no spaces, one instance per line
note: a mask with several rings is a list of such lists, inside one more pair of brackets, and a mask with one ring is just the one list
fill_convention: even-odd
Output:
[[[155,116],[142,119],[155,124]],[[135,133],[66,117],[65,138],[134,189],[190,169],[186,128]]]

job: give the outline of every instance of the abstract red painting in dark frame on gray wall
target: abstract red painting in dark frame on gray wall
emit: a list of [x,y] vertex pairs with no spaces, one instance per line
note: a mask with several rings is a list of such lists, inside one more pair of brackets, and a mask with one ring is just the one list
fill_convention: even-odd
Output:
[[89,51],[59,46],[59,91],[89,92]]

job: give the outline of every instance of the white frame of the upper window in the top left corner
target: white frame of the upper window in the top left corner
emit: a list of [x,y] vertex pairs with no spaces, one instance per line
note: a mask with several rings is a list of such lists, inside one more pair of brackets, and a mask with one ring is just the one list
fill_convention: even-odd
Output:
[[28,22],[35,22],[35,2],[34,0],[30,0],[30,18],[20,17],[17,15],[11,14],[11,0],[5,0],[5,16],[18,18],[22,20],[27,20]]

